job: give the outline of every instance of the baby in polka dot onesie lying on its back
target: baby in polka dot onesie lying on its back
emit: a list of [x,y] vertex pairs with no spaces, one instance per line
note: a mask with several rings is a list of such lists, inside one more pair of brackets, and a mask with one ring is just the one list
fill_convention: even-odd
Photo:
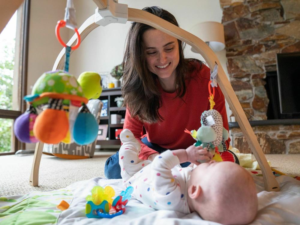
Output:
[[[123,184],[134,196],[155,209],[196,211],[204,220],[222,224],[247,224],[257,212],[257,196],[249,172],[232,162],[199,164],[211,159],[200,146],[167,150],[153,161],[138,157],[140,143],[128,129],[120,134],[119,163]],[[190,161],[198,166],[182,168]]]

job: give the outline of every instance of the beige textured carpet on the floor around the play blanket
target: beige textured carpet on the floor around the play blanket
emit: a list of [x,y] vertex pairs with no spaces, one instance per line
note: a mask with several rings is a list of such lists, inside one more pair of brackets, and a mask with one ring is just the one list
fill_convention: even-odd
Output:
[[[104,177],[106,159],[115,152],[96,152],[94,158],[65,160],[44,155],[41,159],[39,186],[29,185],[33,155],[0,156],[0,196],[26,194],[32,190],[47,191],[93,177]],[[286,174],[300,176],[300,154],[266,155],[271,166]]]

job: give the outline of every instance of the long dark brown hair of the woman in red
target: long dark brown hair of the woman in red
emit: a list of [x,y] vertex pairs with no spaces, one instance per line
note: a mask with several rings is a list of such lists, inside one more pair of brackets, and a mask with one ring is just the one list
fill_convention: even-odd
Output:
[[[159,16],[162,19],[179,27],[175,17],[157,6],[146,7],[143,10]],[[129,109],[132,117],[147,123],[156,123],[163,118],[158,113],[161,107],[161,94],[158,90],[158,77],[149,71],[146,64],[146,48],[143,43],[143,33],[152,26],[133,22],[127,34],[127,44],[123,58],[122,95],[124,105]],[[176,97],[182,98],[186,91],[185,74],[187,73],[188,59],[184,58],[185,43],[178,40],[179,63],[176,67]]]

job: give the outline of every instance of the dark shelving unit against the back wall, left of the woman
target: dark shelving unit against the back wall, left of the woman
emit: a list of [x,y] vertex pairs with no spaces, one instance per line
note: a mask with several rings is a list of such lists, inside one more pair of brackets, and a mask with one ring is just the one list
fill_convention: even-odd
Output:
[[125,118],[126,107],[117,107],[114,101],[116,97],[122,96],[121,88],[109,88],[103,89],[100,100],[108,100],[107,102],[107,116],[101,116],[100,124],[108,124],[107,137],[109,140],[97,140],[97,145],[121,145],[121,141],[116,139],[115,130],[122,129],[123,124],[111,124],[110,115],[119,114],[122,118]]

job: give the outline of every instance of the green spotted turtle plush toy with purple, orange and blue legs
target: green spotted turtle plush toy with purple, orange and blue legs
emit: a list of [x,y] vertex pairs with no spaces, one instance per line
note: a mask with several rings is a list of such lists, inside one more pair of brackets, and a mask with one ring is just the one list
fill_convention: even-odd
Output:
[[86,104],[89,98],[101,95],[101,77],[84,72],[79,78],[63,70],[44,73],[35,82],[32,95],[24,97],[30,106],[14,123],[16,137],[27,143],[92,143],[98,123]]

